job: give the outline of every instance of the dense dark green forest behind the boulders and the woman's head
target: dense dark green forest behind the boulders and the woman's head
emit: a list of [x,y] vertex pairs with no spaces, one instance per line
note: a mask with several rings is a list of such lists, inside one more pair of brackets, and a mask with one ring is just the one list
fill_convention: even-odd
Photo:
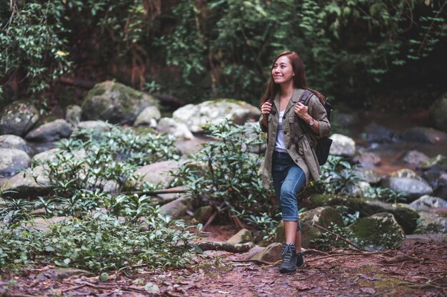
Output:
[[[0,0],[0,108],[80,103],[114,79],[184,103],[258,105],[277,53],[336,104],[426,105],[446,90],[447,1]],[[380,99],[379,99],[380,98]]]

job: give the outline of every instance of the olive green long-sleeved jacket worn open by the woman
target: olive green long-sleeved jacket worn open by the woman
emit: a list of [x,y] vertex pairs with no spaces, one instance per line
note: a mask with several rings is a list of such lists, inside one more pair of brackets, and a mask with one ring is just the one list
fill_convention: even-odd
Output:
[[[326,110],[321,105],[320,100],[312,95],[308,100],[308,114],[315,120],[318,120],[318,132],[317,135],[310,127],[306,133],[303,133],[300,125],[294,125],[293,123],[298,120],[298,116],[293,112],[293,107],[298,103],[303,89],[293,90],[291,100],[288,102],[286,111],[283,116],[283,133],[284,143],[286,144],[286,150],[288,155],[291,156],[293,161],[298,165],[301,170],[306,174],[306,184],[311,180],[317,180],[320,178],[320,165],[318,165],[318,159],[315,154],[316,140],[321,137],[327,137],[331,130],[331,123],[329,123]],[[268,127],[262,123],[263,115],[259,119],[259,125],[261,130],[267,132],[267,149],[263,164],[262,184],[263,187],[270,187],[271,182],[271,160],[273,155],[273,149],[275,147],[276,133],[278,130],[278,111],[279,111],[279,93],[273,100],[273,109],[275,112],[268,115]],[[293,127],[297,126],[298,131],[295,135],[298,137],[298,144],[294,142]]]

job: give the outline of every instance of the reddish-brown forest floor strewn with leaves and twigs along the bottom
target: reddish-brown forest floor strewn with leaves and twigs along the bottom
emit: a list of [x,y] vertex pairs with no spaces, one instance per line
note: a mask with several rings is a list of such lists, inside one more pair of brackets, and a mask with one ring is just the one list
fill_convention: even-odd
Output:
[[[224,241],[236,231],[211,226],[207,239]],[[106,281],[79,275],[58,280],[50,266],[19,276],[3,272],[0,296],[447,296],[447,244],[440,235],[410,236],[392,251],[307,250],[306,268],[289,274],[279,273],[279,264],[245,256],[206,251],[184,269],[141,268]]]

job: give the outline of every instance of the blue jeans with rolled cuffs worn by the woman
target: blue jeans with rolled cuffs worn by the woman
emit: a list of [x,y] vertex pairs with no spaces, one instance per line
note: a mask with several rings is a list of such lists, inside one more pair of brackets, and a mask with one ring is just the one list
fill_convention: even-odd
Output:
[[282,219],[286,222],[298,222],[296,231],[299,231],[301,224],[298,220],[296,194],[306,184],[306,174],[286,152],[273,152],[271,167],[273,186],[281,204]]

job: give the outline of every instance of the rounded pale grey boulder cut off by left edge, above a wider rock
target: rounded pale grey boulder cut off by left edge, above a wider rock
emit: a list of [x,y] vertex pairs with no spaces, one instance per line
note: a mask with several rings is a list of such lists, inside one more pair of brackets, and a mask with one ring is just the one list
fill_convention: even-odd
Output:
[[11,177],[31,165],[31,158],[23,150],[0,148],[0,176]]

